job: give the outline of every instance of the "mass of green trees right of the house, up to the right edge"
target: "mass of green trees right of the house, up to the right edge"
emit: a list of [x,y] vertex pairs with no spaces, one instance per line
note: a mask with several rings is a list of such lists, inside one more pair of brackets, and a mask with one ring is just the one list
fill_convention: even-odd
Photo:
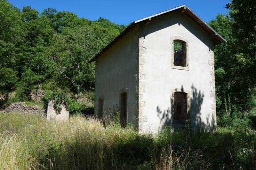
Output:
[[228,41],[214,49],[216,99],[226,113],[233,105],[245,116],[256,85],[255,3],[233,0],[227,8],[229,15],[219,14],[209,23]]

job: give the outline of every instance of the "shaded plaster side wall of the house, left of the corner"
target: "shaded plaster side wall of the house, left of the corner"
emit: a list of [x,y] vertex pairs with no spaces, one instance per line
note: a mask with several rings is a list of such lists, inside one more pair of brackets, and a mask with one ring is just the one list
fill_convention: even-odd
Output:
[[137,124],[138,47],[135,28],[96,59],[95,115],[98,115],[100,98],[104,100],[104,114],[109,114],[109,110],[113,112],[116,105],[120,110],[120,94],[126,91],[127,122]]

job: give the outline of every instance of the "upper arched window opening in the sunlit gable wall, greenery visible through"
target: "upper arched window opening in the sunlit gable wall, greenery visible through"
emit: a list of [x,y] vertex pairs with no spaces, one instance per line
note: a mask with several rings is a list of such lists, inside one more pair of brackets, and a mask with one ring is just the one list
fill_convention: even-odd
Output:
[[174,66],[186,67],[187,54],[186,42],[182,40],[173,40]]

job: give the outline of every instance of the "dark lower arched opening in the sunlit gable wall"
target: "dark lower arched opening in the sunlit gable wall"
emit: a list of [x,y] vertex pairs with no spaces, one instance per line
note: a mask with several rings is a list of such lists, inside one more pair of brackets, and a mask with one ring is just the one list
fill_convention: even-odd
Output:
[[174,119],[187,120],[188,119],[188,94],[185,92],[174,93]]

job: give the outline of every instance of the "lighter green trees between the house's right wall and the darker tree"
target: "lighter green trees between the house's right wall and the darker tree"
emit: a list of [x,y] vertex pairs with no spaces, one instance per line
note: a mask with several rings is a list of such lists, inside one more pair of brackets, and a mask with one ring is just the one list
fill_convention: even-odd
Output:
[[[219,101],[217,108],[225,107],[226,114],[231,112],[231,98],[230,95],[234,75],[233,69],[235,67],[232,51],[232,44],[234,38],[231,32],[232,21],[229,15],[218,14],[216,19],[212,19],[209,22],[210,26],[220,33],[226,40],[227,43],[222,43],[214,48],[214,63],[215,63],[215,86],[216,86],[216,100]],[[228,101],[228,102],[227,102]]]

